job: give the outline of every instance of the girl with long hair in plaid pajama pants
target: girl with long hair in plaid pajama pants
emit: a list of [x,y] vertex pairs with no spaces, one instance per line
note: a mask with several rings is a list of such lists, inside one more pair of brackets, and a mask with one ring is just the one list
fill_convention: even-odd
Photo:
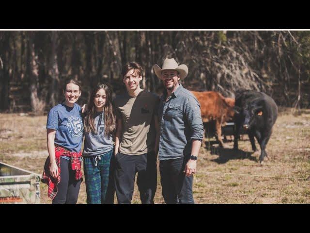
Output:
[[87,203],[113,203],[111,170],[116,116],[112,94],[106,84],[93,89],[84,116],[84,174]]

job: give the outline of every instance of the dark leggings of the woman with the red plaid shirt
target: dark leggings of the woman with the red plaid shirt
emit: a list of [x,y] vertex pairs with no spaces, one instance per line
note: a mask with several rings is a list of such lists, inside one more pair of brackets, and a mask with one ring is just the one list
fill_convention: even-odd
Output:
[[52,204],[76,204],[82,180],[76,180],[76,172],[71,169],[69,160],[60,158],[60,169],[60,183],[57,185],[58,192]]

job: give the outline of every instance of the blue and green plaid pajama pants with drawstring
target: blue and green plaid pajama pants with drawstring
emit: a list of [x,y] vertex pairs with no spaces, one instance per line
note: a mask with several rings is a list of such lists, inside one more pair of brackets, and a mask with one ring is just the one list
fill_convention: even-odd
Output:
[[[113,203],[112,153],[113,150],[110,150],[102,155],[84,157],[84,175],[88,204]],[[111,195],[113,197],[110,197]]]

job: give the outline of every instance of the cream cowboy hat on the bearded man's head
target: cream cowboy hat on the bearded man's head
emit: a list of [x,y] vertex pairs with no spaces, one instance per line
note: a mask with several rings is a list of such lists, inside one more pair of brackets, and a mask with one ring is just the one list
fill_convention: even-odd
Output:
[[163,63],[162,69],[157,64],[154,65],[153,68],[154,68],[156,76],[159,79],[161,79],[161,71],[166,70],[166,69],[173,69],[173,70],[178,71],[180,80],[185,79],[185,77],[188,74],[187,66],[184,64],[179,66],[173,58],[166,58]]

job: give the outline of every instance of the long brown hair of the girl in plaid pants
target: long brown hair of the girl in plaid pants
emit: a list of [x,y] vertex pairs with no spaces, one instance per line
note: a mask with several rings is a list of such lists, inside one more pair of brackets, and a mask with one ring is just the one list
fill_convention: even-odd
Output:
[[84,132],[87,133],[96,133],[95,125],[94,125],[94,117],[96,113],[96,106],[93,103],[96,93],[100,90],[104,89],[106,92],[106,103],[103,107],[104,111],[104,121],[105,121],[105,132],[104,136],[107,137],[110,134],[115,132],[116,126],[116,116],[114,107],[112,104],[112,93],[111,88],[107,84],[99,84],[94,89],[90,96],[87,111],[84,117]]

